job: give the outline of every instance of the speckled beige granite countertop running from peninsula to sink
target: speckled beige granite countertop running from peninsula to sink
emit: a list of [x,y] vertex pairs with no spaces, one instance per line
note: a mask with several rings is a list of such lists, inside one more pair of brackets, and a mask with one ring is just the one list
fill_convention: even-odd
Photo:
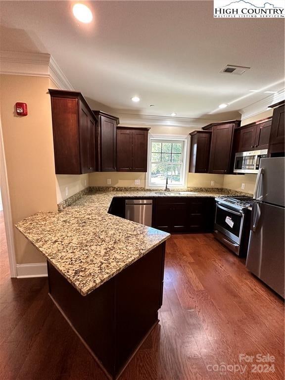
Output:
[[[213,197],[221,193],[170,192],[171,195]],[[61,212],[39,212],[16,225],[82,295],[89,294],[170,237],[166,232],[108,214],[114,196],[165,194],[98,191],[83,195]]]

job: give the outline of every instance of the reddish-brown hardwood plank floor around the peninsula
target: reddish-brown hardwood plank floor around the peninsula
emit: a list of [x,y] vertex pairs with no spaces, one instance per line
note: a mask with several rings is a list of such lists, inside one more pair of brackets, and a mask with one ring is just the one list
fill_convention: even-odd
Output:
[[[9,278],[1,220],[0,243],[0,379],[106,380],[49,299],[47,279]],[[211,234],[168,240],[159,319],[120,380],[284,379],[283,300]],[[275,372],[239,362],[258,353],[275,356]],[[222,363],[247,368],[223,373]]]

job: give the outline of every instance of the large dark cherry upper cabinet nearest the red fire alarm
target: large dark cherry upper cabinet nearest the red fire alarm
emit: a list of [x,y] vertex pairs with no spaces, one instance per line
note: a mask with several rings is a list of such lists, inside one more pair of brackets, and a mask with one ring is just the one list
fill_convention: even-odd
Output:
[[55,174],[95,171],[95,116],[81,93],[48,90]]

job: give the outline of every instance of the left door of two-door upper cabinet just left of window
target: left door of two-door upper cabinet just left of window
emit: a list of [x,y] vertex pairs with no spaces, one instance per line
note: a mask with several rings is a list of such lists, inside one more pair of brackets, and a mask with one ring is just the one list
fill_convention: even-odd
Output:
[[131,130],[117,130],[117,171],[132,171],[133,133]]

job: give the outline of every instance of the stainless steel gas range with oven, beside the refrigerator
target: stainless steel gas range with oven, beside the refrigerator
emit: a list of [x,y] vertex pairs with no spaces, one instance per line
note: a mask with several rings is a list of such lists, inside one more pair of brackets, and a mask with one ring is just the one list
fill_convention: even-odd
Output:
[[215,237],[238,256],[246,256],[252,198],[219,196],[215,200]]

